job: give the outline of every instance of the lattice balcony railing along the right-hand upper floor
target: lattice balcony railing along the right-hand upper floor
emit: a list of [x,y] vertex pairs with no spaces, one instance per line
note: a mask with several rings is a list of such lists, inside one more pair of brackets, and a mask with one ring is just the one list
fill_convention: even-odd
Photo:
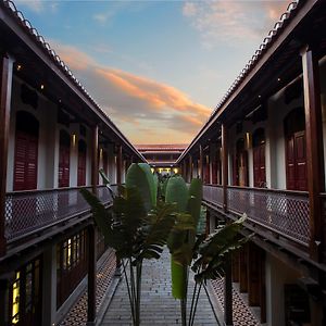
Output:
[[[204,186],[203,199],[222,206],[223,188]],[[227,206],[231,213],[246,213],[249,221],[298,243],[309,244],[309,198],[306,192],[227,187]]]

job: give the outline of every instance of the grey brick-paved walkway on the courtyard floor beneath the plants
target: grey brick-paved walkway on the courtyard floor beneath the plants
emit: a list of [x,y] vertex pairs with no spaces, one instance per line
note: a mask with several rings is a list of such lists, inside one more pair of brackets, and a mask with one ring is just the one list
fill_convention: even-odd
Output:
[[[170,276],[170,254],[163,252],[162,258],[151,261],[145,261],[141,291],[141,326],[170,326],[180,325],[180,304],[179,300],[172,297],[171,276]],[[192,280],[192,279],[191,279]],[[193,285],[193,280],[191,285]],[[189,293],[191,296],[191,293]],[[128,292],[124,279],[120,283],[116,292],[111,301],[104,317],[102,326],[129,326],[131,325],[131,315],[128,301]],[[198,302],[195,326],[218,325],[213,313],[211,303],[204,289]]]

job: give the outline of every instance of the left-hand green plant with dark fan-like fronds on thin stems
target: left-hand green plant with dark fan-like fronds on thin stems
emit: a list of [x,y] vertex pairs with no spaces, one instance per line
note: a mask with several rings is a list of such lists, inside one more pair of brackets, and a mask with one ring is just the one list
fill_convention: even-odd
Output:
[[[104,183],[109,183],[103,172]],[[145,259],[159,259],[175,224],[175,205],[156,200],[158,181],[147,164],[131,164],[126,186],[118,189],[112,210],[91,192],[80,190],[90,204],[105,242],[115,249],[127,283],[133,324],[140,325],[141,273]],[[128,272],[127,272],[128,271]]]

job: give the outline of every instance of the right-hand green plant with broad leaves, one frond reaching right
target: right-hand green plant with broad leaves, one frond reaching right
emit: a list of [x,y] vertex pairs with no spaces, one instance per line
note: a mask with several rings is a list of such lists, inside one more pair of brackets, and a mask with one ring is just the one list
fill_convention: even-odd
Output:
[[[172,261],[172,292],[180,299],[183,326],[191,326],[195,322],[197,305],[202,286],[208,279],[223,275],[225,258],[233,250],[242,246],[247,239],[237,237],[246,216],[225,226],[221,226],[209,237],[204,234],[201,208],[202,183],[192,179],[187,188],[180,176],[171,177],[166,186],[166,202],[175,202],[178,214],[176,224],[167,241]],[[199,231],[201,229],[201,233]],[[187,317],[187,297],[189,268],[195,273],[195,287],[191,297],[190,312]]]

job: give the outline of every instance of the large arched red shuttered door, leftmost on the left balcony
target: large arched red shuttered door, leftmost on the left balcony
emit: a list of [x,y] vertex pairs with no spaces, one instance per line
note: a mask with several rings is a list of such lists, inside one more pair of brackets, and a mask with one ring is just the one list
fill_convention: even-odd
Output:
[[13,190],[32,190],[37,188],[38,161],[37,120],[28,112],[17,112],[14,152]]

